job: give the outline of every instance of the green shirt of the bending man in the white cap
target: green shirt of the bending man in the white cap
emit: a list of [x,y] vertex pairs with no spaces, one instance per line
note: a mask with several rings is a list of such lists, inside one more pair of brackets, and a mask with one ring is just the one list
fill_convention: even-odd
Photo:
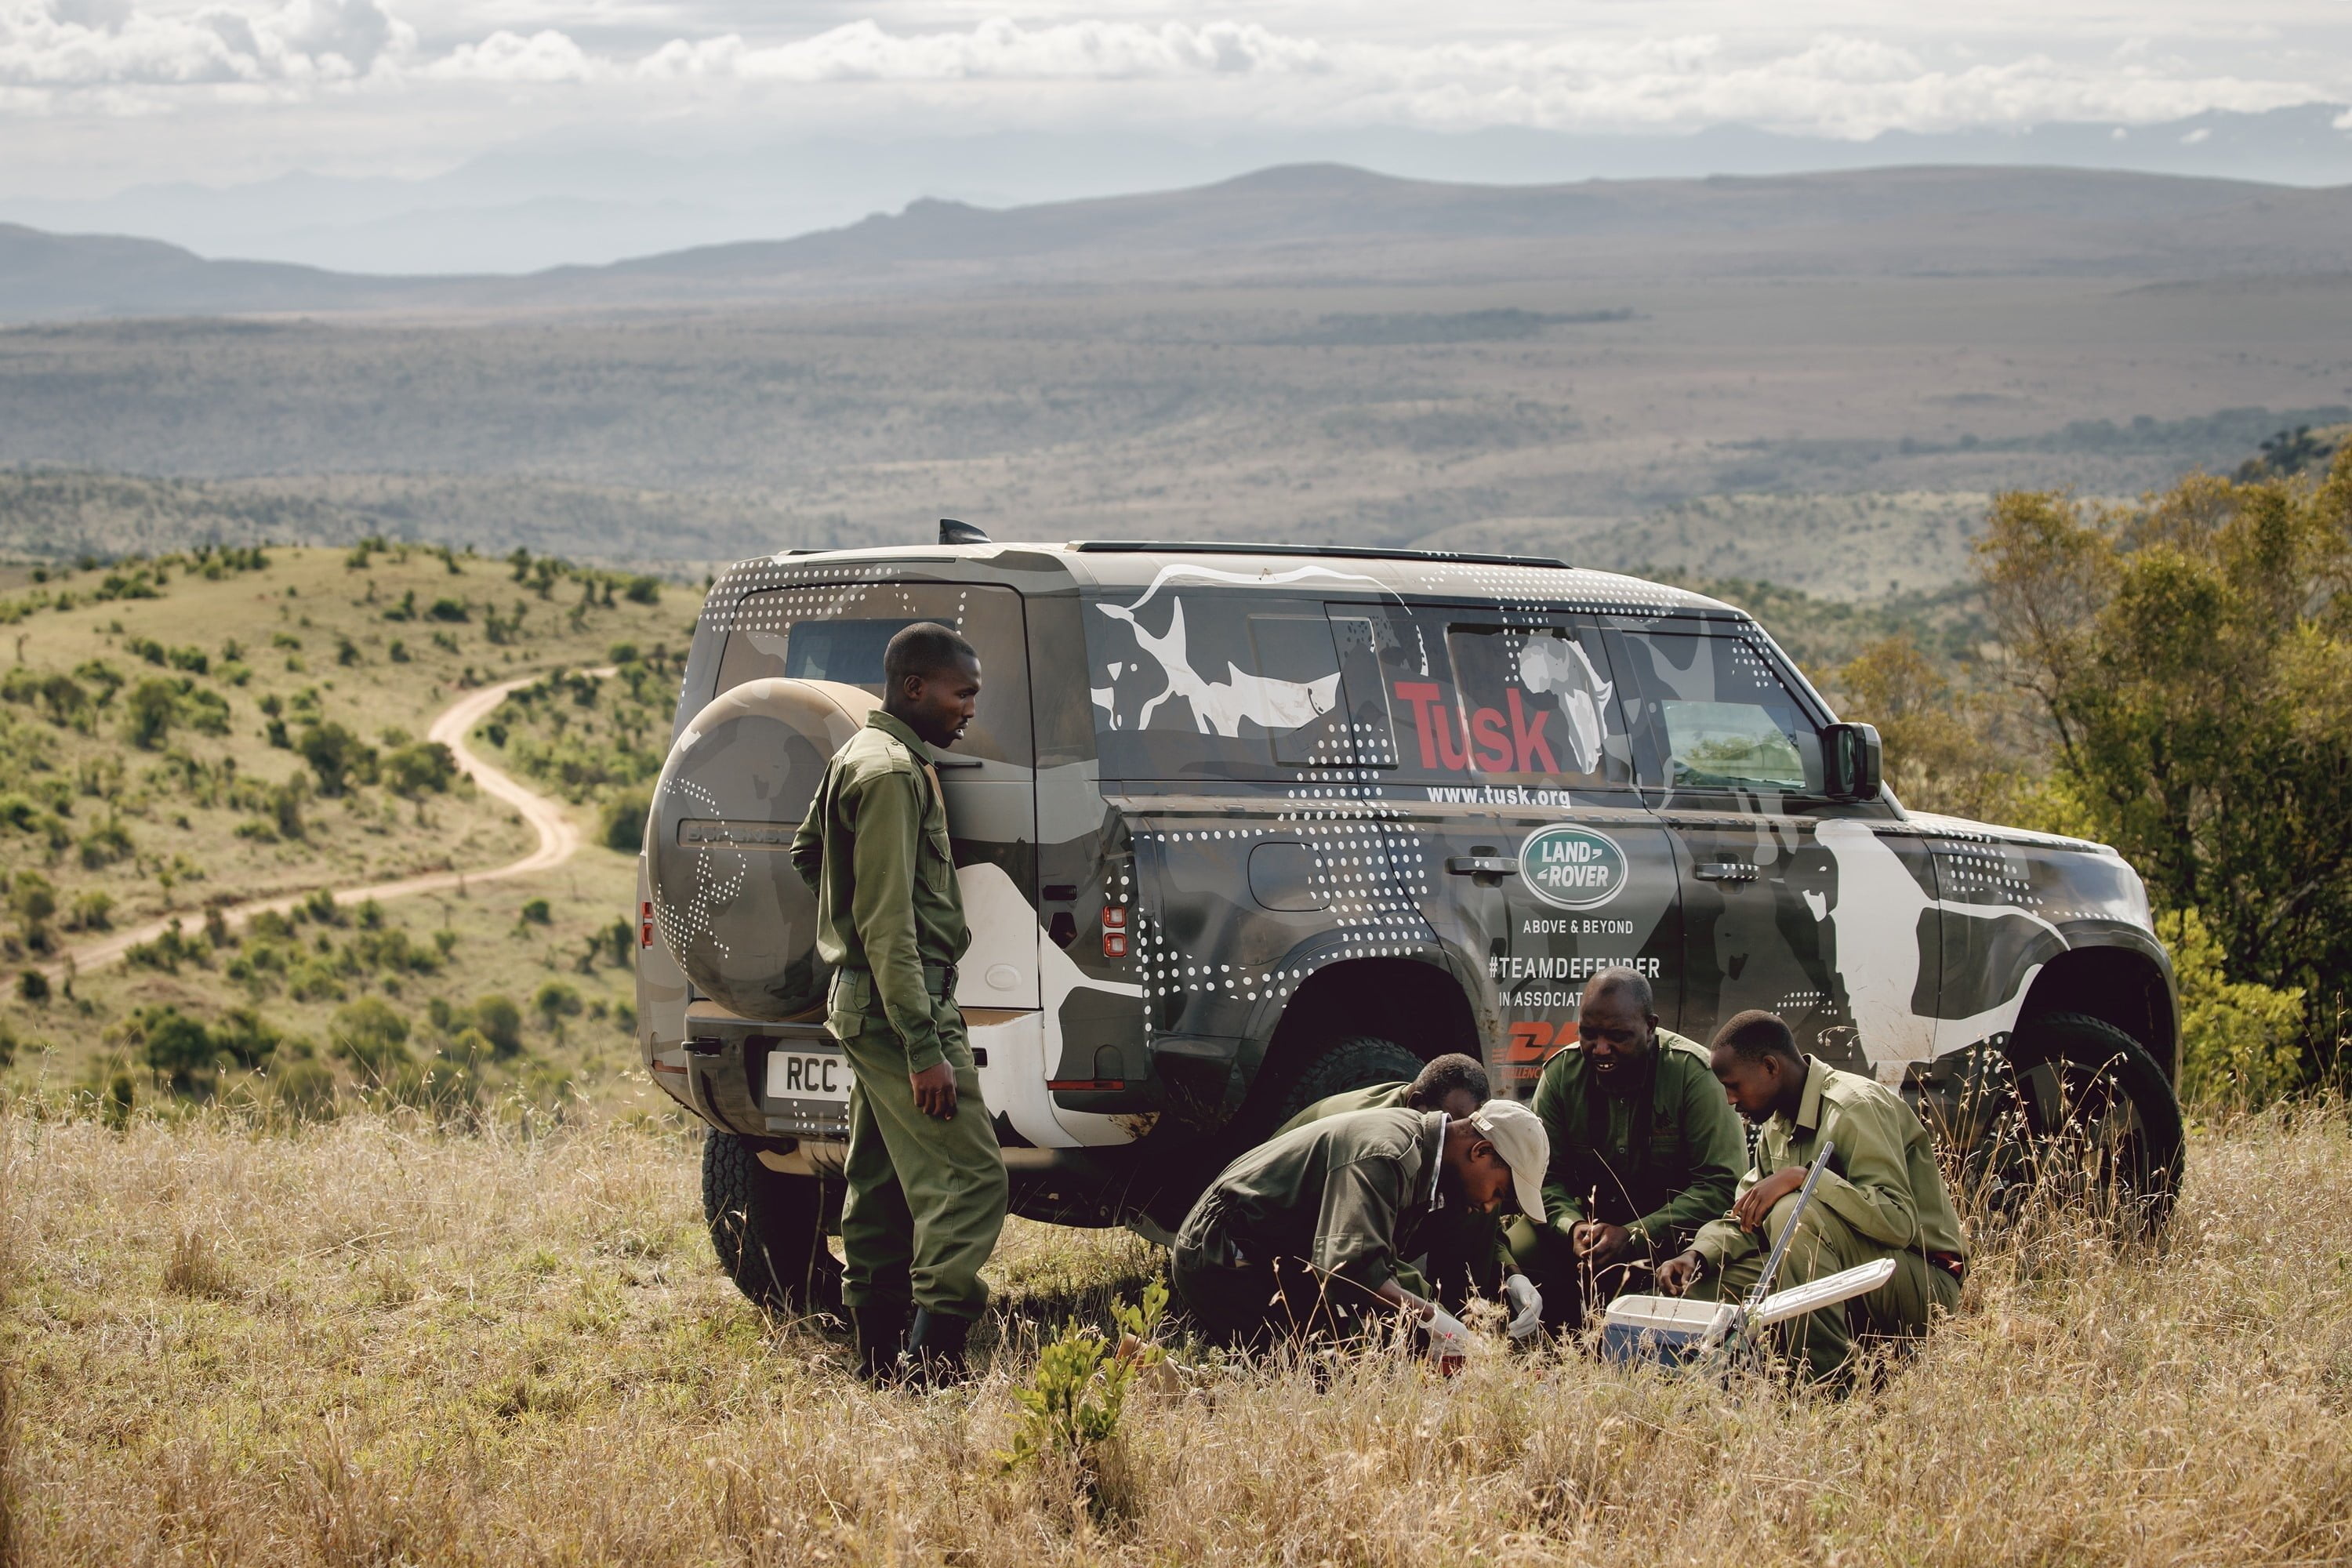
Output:
[[1176,1244],[1247,1262],[1305,1258],[1378,1291],[1437,1206],[1442,1126],[1437,1112],[1359,1110],[1282,1133],[1225,1166]]

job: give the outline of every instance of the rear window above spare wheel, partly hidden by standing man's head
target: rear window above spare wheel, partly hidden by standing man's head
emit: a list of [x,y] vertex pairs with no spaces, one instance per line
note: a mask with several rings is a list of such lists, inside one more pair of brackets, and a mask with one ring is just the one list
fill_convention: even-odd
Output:
[[981,654],[981,701],[960,757],[1030,766],[1028,642],[1021,595],[957,583],[837,583],[746,595],[720,651],[717,691],[788,675],[882,696],[882,649],[901,628],[936,621]]

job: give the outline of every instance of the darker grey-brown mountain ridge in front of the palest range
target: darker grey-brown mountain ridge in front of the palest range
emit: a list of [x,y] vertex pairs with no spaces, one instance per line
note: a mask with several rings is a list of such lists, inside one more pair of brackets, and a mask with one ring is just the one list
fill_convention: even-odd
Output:
[[1451,186],[1315,165],[1004,212],[922,200],[847,228],[524,277],[207,261],[0,226],[0,322],[691,308],[1148,277],[2352,275],[2352,188],[2086,169]]

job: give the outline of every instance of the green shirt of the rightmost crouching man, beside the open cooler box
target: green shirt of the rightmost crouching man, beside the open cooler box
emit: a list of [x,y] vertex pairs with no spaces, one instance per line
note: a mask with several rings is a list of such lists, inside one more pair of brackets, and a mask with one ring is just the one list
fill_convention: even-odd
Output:
[[[1740,1178],[1740,1192],[1773,1171],[1811,1166],[1823,1138],[1837,1152],[1813,1187],[1816,1204],[1879,1246],[1969,1255],[1959,1215],[1943,1190],[1943,1171],[1936,1168],[1936,1150],[1912,1107],[1877,1079],[1839,1072],[1813,1056],[1804,1058],[1797,1124],[1790,1126],[1780,1114],[1764,1119],[1757,1128],[1757,1159]],[[1731,1218],[1700,1229],[1691,1246],[1715,1267],[1762,1251]]]

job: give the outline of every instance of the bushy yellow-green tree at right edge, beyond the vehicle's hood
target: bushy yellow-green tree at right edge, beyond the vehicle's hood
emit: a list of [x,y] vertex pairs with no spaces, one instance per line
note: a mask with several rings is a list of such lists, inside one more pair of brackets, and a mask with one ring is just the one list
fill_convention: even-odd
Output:
[[1980,550],[2053,783],[2227,983],[2303,992],[2317,1065],[2352,1006],[2352,449],[2138,510],[2006,494]]

